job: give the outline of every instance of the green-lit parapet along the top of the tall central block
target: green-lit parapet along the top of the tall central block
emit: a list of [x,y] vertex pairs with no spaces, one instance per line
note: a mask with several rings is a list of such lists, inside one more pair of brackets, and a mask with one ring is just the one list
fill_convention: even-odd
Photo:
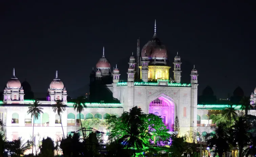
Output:
[[[169,80],[157,80],[157,82],[134,82],[134,85],[146,85],[146,86],[158,86],[159,85],[159,81],[163,82],[168,82],[168,86],[176,86],[176,87],[191,87],[191,84],[187,84],[187,83],[171,83],[169,82]],[[127,82],[120,82],[117,83],[116,86],[127,86]]]

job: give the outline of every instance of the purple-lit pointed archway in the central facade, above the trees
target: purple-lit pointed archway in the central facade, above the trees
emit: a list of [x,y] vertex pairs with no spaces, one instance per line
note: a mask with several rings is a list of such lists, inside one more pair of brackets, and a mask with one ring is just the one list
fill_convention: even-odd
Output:
[[154,113],[163,118],[164,124],[171,130],[174,123],[175,104],[166,98],[160,96],[149,103],[149,113]]

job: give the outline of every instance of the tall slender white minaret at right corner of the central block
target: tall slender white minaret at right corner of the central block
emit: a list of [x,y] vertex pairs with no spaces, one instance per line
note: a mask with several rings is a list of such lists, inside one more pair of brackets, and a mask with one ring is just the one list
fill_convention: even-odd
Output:
[[194,68],[191,71],[191,107],[190,107],[190,111],[191,111],[191,118],[190,118],[190,126],[193,128],[196,128],[196,117],[197,117],[197,70],[195,69],[195,65]]

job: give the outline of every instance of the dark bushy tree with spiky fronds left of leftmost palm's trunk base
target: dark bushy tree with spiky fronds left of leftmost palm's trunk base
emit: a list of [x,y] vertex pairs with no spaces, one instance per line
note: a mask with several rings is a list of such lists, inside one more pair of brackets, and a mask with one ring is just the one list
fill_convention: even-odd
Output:
[[6,150],[11,156],[20,157],[21,155],[24,155],[26,150],[29,149],[30,145],[28,142],[23,143],[21,137],[19,137],[17,140],[6,142]]

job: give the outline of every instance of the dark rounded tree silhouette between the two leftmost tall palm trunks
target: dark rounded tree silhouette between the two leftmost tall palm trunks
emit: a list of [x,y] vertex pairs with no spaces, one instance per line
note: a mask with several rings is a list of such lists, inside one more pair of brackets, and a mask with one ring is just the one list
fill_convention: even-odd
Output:
[[54,141],[50,137],[43,138],[39,157],[54,157],[54,150]]

